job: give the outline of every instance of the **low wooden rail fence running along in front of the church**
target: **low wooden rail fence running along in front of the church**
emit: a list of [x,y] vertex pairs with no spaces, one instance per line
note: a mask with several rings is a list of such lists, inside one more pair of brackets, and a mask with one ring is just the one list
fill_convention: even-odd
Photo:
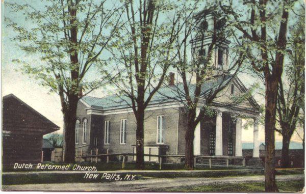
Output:
[[[81,155],[75,156],[76,158],[81,158],[81,159],[86,159],[90,158],[90,162],[95,161],[96,163],[98,162],[98,158],[105,158],[106,157],[106,163],[109,163],[110,156],[122,156],[122,169],[125,167],[125,156],[136,156],[136,153],[107,153],[106,154],[98,154],[98,150],[96,149],[96,153],[93,154],[93,151],[90,151],[90,155]],[[158,157],[159,158],[159,169],[162,169],[162,158],[167,158],[167,157],[179,157],[179,158],[185,158],[185,155],[156,155],[156,154],[143,154],[144,156],[149,156],[149,157]],[[196,164],[196,158],[205,158],[209,160],[209,167],[212,168],[212,160],[225,160],[226,162],[226,167],[229,165],[229,161],[232,159],[239,159],[241,160],[241,165],[244,167],[245,166],[245,158],[244,157],[237,157],[237,156],[203,156],[203,155],[196,155],[194,156],[194,165]]]

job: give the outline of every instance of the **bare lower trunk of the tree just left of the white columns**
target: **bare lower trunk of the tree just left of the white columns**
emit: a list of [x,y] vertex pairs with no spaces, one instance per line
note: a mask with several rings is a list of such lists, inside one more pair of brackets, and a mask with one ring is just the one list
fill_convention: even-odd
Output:
[[[194,119],[193,119],[194,120]],[[193,140],[194,140],[194,126],[188,119],[187,130],[185,134],[185,169],[194,169],[194,155],[193,155]]]

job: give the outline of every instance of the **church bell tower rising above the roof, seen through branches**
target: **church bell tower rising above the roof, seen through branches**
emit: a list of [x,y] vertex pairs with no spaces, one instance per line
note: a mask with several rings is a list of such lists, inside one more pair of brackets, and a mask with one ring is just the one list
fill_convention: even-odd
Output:
[[[205,59],[209,47],[213,45],[212,56],[209,61],[215,70],[228,69],[228,45],[224,35],[225,18],[222,18],[215,9],[203,10],[195,16],[195,38],[191,40],[193,59]],[[204,63],[204,61],[203,61]]]

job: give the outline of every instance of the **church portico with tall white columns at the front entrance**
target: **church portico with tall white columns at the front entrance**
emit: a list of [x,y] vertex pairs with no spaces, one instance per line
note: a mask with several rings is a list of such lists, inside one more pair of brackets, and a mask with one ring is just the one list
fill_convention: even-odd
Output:
[[194,155],[242,157],[242,119],[252,118],[253,157],[259,158],[258,117],[258,113],[216,108],[215,116],[203,118],[195,128]]

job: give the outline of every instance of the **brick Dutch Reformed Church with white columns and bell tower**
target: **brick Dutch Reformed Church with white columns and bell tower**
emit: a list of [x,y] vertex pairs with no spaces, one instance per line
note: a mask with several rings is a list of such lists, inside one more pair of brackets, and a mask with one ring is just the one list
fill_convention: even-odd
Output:
[[[202,27],[212,26],[213,13],[204,13]],[[192,40],[192,52],[205,54],[212,37],[203,34]],[[213,64],[216,71],[228,68],[228,44],[225,40],[214,50]],[[184,105],[173,100],[177,91],[184,91],[181,83],[174,84],[174,73],[169,74],[169,84],[160,88],[145,110],[144,153],[160,155],[185,154],[185,133],[187,116]],[[208,95],[220,85],[226,87],[219,92],[211,109],[215,115],[206,117],[196,126],[194,133],[194,154],[208,156],[242,157],[242,119],[253,119],[253,157],[259,158],[259,105],[252,98],[238,104],[225,105],[234,96],[247,92],[242,81],[232,74],[225,74],[206,81],[202,95]],[[190,90],[194,87],[190,84]],[[181,88],[181,90],[176,90]],[[171,98],[167,96],[171,96]],[[136,153],[136,119],[129,105],[129,98],[117,94],[101,98],[84,96],[80,99],[75,123],[75,153],[87,155],[90,152]],[[197,112],[201,106],[199,104]],[[223,106],[224,105],[224,106]],[[157,157],[145,156],[145,161],[158,161]],[[135,160],[130,157],[129,160]]]

